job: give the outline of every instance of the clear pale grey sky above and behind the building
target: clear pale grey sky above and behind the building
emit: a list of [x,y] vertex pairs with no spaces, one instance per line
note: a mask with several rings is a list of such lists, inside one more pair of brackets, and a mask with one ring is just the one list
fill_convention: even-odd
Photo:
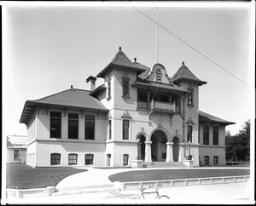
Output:
[[[252,118],[254,15],[250,3],[236,7],[233,4],[201,7],[193,3],[182,7],[174,7],[172,3],[151,7],[146,3],[130,5],[136,9],[84,4],[65,7],[11,4],[3,8],[5,134],[27,134],[26,125],[19,123],[26,100],[37,100],[70,89],[71,85],[89,89],[86,78],[101,72],[119,47],[131,61],[136,57],[138,62],[152,68],[157,61],[156,24],[152,21],[156,20],[156,6],[160,26],[243,83],[159,27],[159,63],[166,67],[169,77],[184,61],[196,77],[207,81],[200,87],[199,109],[235,122],[226,127],[231,134],[236,134]],[[97,79],[97,85],[101,83],[102,79]]]

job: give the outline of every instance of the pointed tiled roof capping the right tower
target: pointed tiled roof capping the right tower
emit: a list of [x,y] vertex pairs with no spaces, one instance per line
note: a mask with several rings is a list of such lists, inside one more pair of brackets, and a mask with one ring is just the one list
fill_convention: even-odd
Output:
[[206,84],[207,82],[201,81],[198,77],[195,77],[195,75],[189,70],[187,66],[185,66],[184,62],[182,66],[178,69],[178,71],[173,75],[172,81],[173,83],[179,81],[179,80],[190,80],[198,83],[200,86],[202,84]]

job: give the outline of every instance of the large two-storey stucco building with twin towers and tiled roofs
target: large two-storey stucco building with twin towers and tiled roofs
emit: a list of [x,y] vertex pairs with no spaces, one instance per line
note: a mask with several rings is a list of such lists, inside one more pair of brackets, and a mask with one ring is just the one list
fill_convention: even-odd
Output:
[[[96,88],[96,79],[104,83]],[[231,122],[199,112],[201,81],[182,66],[173,77],[128,59],[119,48],[90,90],[67,89],[27,100],[27,160],[50,165],[131,166],[131,163],[225,164],[224,128]]]

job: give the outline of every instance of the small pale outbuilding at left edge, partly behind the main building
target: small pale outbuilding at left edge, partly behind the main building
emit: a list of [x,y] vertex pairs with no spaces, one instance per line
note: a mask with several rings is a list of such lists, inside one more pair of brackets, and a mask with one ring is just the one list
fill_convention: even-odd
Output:
[[6,163],[26,163],[26,136],[7,136]]

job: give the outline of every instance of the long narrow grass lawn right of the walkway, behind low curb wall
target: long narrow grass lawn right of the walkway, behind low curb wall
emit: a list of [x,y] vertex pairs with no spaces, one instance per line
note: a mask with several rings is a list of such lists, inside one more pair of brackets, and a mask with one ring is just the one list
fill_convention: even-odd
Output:
[[250,175],[250,169],[150,169],[117,173],[110,175],[108,178],[112,182],[131,182],[238,175]]

